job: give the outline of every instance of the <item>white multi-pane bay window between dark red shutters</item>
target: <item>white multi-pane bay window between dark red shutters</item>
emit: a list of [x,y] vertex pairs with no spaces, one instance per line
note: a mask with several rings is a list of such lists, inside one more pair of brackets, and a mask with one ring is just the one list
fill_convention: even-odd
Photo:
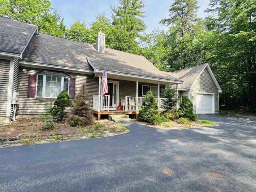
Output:
[[60,92],[68,93],[69,78],[53,75],[38,75],[36,84],[36,96],[43,98],[56,98]]

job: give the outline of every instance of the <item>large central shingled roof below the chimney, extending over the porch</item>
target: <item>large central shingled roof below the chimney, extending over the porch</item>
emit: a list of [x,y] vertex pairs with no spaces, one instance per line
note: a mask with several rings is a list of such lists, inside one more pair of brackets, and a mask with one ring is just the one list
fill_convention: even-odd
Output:
[[65,66],[84,70],[94,68],[122,74],[180,81],[170,73],[158,70],[143,56],[114,49],[105,49],[105,53],[96,51],[94,45],[39,33],[30,40],[23,53],[22,60],[54,66]]

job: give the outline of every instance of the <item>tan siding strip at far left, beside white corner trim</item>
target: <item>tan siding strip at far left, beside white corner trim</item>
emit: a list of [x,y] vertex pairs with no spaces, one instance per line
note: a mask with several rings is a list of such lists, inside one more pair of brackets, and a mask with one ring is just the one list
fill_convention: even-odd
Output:
[[0,59],[0,117],[6,117],[10,60]]

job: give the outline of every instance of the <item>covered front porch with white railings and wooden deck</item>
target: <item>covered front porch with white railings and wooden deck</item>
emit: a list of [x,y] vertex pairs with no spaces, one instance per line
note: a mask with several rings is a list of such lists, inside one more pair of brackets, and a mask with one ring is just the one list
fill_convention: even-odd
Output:
[[[165,110],[166,98],[160,98],[161,89],[165,85],[173,82],[154,81],[151,79],[134,79],[120,77],[108,74],[108,94],[102,96],[101,75],[98,74],[99,89],[98,95],[93,96],[92,108],[93,113],[100,120],[101,115],[109,114],[135,114],[138,117],[138,112],[142,107],[144,96],[150,90],[158,104],[159,112]],[[176,83],[176,91],[178,92],[178,84]]]

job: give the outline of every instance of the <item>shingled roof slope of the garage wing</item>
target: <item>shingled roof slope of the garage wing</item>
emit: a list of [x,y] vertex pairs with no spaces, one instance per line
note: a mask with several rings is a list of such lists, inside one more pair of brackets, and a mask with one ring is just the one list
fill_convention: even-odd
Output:
[[178,86],[179,89],[190,88],[196,78],[200,75],[202,70],[206,67],[207,63],[200,64],[198,66],[178,70],[171,72],[170,74],[178,79],[183,80],[183,84]]

